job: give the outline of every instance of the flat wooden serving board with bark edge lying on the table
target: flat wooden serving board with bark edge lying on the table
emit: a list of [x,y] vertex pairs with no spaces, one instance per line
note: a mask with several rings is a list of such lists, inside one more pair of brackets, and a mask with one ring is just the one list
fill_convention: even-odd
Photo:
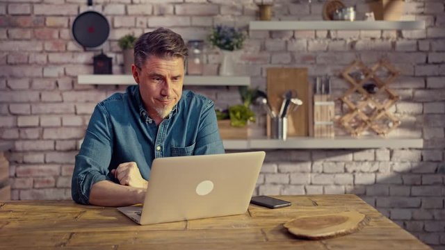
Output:
[[365,215],[355,211],[302,215],[284,224],[297,238],[321,240],[359,231],[366,224]]

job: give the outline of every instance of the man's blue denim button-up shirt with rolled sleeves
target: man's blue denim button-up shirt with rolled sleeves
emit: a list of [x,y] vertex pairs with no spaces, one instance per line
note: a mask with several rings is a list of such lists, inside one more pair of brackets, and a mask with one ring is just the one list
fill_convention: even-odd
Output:
[[72,176],[72,199],[88,204],[98,181],[119,181],[111,174],[121,163],[136,162],[149,180],[154,158],[224,153],[213,101],[184,90],[159,126],[148,116],[138,85],[113,94],[92,113]]

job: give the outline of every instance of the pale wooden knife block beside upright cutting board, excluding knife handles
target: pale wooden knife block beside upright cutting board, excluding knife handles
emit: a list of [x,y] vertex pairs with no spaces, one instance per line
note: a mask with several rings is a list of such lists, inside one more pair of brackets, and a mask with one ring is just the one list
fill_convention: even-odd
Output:
[[330,94],[314,94],[314,137],[334,137],[334,106]]

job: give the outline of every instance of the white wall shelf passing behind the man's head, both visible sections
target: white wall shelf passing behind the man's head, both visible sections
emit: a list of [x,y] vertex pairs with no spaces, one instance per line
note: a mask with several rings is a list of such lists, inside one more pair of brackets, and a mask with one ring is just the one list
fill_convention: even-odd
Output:
[[[88,74],[77,76],[79,84],[97,85],[133,85],[136,82],[131,75]],[[185,76],[184,85],[202,86],[248,86],[249,76]]]

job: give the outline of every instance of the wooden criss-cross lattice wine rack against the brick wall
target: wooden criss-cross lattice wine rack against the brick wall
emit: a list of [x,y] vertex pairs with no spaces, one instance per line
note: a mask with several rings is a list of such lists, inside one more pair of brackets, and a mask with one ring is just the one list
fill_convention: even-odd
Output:
[[[356,60],[341,75],[351,85],[340,98],[346,104],[347,112],[339,119],[339,123],[346,131],[355,137],[368,130],[386,136],[401,124],[389,110],[399,97],[388,88],[400,72],[387,60],[380,60],[371,68]],[[375,92],[364,88],[364,85],[369,84],[375,85]]]

